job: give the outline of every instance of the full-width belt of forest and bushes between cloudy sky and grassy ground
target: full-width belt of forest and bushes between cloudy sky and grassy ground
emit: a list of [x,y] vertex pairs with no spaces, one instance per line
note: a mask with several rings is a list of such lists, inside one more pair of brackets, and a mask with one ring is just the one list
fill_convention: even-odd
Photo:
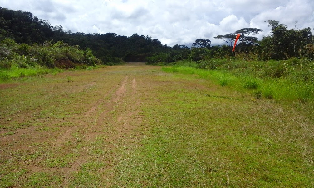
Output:
[[[218,35],[225,45],[211,46],[209,39],[199,38],[191,49],[176,44],[173,47],[161,44],[158,39],[137,33],[127,37],[116,33],[85,34],[64,31],[62,26],[52,26],[49,21],[33,16],[30,12],[14,11],[0,7],[0,61],[33,59],[41,65],[54,67],[52,61],[87,64],[120,64],[122,62],[172,63],[178,60],[206,61],[230,58],[237,54],[252,60],[285,60],[314,58],[314,40],[311,28],[288,29],[275,20],[267,20],[271,34],[257,40],[258,28],[243,28],[234,33]],[[241,37],[236,53],[232,45],[236,33]],[[62,41],[62,42],[60,42]],[[63,54],[56,57],[56,54]],[[74,55],[76,54],[76,55]],[[93,59],[93,60],[88,60]],[[29,63],[30,64],[30,63]],[[23,65],[21,65],[23,67]],[[25,65],[24,65],[25,66]],[[67,66],[65,66],[67,67]]]

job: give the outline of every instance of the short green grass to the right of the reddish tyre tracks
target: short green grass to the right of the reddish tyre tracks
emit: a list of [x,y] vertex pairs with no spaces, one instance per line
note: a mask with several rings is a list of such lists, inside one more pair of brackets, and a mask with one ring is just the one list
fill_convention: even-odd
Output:
[[[269,100],[208,97],[204,94],[241,98],[234,96],[232,88],[209,83],[197,91],[197,86],[187,87],[190,78],[168,75],[169,82],[180,79],[181,83],[146,95],[149,101],[158,99],[143,105],[143,125],[149,129],[141,147],[122,151],[114,187],[312,185],[313,156],[308,147],[313,145],[300,139],[300,135],[312,135],[306,130],[312,130],[306,117]],[[192,81],[197,82],[205,83]]]

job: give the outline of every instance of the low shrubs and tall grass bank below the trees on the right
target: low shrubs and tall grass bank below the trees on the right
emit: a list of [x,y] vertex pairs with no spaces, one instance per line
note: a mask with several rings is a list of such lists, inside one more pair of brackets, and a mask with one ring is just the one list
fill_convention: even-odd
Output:
[[[178,61],[172,65],[172,67],[163,67],[162,70],[197,74],[201,78],[214,80],[221,86],[229,86],[237,90],[246,89],[251,91],[253,96],[259,93],[266,99],[276,101],[298,100],[301,103],[309,103],[314,100],[314,62],[311,61],[290,59],[265,62],[213,59],[194,63]],[[281,65],[282,69],[279,67]],[[260,98],[259,95],[257,98]]]

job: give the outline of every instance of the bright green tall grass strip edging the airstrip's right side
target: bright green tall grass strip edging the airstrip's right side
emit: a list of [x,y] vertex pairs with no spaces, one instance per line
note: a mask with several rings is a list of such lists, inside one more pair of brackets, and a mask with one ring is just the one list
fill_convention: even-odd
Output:
[[[306,66],[304,62],[302,63],[303,66]],[[234,87],[238,90],[253,90],[252,95],[255,96],[258,93],[258,96],[261,95],[265,99],[273,99],[275,101],[298,100],[301,103],[306,103],[314,100],[314,82],[312,81],[314,79],[311,75],[313,72],[311,72],[311,69],[299,68],[303,69],[303,72],[294,70],[294,72],[291,73],[292,70],[290,67],[289,70],[287,68],[288,76],[280,76],[279,78],[276,76],[269,76],[264,78],[254,74],[246,74],[244,72],[232,74],[232,71],[223,71],[219,69],[198,69],[195,68],[195,64],[195,62],[181,61],[173,67],[162,67],[162,70],[172,73],[196,74],[200,78],[213,80],[221,86]],[[309,71],[309,74],[304,74]],[[277,75],[279,73],[272,74]]]

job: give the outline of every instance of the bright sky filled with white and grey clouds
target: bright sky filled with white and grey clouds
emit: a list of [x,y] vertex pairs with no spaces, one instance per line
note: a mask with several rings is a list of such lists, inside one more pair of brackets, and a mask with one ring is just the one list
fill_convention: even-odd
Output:
[[24,10],[62,25],[73,33],[133,33],[157,38],[162,44],[191,44],[198,38],[212,45],[217,35],[241,28],[270,29],[265,20],[288,28],[310,27],[314,33],[313,0],[0,0],[0,6]]

